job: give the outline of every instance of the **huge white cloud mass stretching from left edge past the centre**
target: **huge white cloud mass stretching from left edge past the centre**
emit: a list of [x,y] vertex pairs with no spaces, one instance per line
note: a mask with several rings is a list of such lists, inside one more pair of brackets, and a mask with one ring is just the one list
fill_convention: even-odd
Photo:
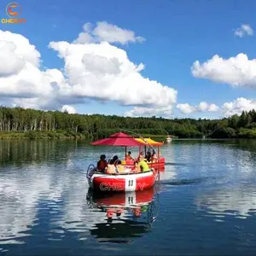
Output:
[[0,98],[22,108],[64,109],[90,99],[133,106],[135,114],[172,112],[177,90],[144,78],[143,63],[133,63],[124,49],[110,44],[141,41],[134,32],[107,22],[94,29],[85,24],[84,32],[90,32],[86,42],[50,42],[64,67],[43,71],[40,53],[27,38],[0,31]]

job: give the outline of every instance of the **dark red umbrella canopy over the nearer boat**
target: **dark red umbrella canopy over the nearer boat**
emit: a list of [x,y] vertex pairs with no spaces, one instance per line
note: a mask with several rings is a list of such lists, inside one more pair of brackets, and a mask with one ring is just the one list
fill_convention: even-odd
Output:
[[138,142],[133,137],[129,136],[124,132],[114,133],[108,138],[98,140],[96,142],[90,143],[91,145],[102,145],[102,146],[124,146],[124,147],[134,147],[134,146],[144,146],[145,143]]

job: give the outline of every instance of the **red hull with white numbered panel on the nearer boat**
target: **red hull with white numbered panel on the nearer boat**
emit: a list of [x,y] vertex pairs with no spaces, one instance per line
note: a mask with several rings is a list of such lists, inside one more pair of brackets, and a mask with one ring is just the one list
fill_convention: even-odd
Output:
[[134,174],[104,174],[94,173],[88,177],[90,188],[100,191],[138,191],[154,186],[156,171],[140,172]]

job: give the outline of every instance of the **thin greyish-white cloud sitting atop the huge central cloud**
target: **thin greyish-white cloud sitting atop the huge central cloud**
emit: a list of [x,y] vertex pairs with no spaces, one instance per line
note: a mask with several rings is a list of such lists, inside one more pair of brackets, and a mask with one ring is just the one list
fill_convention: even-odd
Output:
[[92,24],[86,23],[83,29],[84,32],[79,33],[79,38],[74,43],[91,44],[105,41],[108,43],[127,44],[145,40],[142,37],[135,36],[135,33],[130,30],[108,24],[106,21],[97,22],[95,28],[93,28]]

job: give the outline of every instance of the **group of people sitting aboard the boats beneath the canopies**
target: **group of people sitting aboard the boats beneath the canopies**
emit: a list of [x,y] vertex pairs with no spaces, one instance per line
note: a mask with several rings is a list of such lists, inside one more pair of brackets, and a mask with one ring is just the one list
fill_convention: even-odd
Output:
[[[157,159],[156,154],[155,156],[154,154],[152,155],[150,154],[150,158],[149,158],[149,154],[147,154],[147,157],[144,158],[143,152],[141,152],[137,157],[137,159],[134,159],[131,156],[131,151],[129,151],[128,154],[126,154],[125,161],[132,160],[132,163],[134,166],[134,168],[132,169],[132,172],[148,172],[148,170],[150,169],[148,166],[148,162],[153,161],[153,159],[154,160]],[[151,157],[153,158],[151,159]],[[100,156],[100,160],[97,162],[96,168],[98,172],[104,172],[107,174],[125,172],[125,166],[122,165],[122,161],[119,160],[119,157],[117,155],[114,155],[112,159],[107,161],[106,155],[102,154]]]

